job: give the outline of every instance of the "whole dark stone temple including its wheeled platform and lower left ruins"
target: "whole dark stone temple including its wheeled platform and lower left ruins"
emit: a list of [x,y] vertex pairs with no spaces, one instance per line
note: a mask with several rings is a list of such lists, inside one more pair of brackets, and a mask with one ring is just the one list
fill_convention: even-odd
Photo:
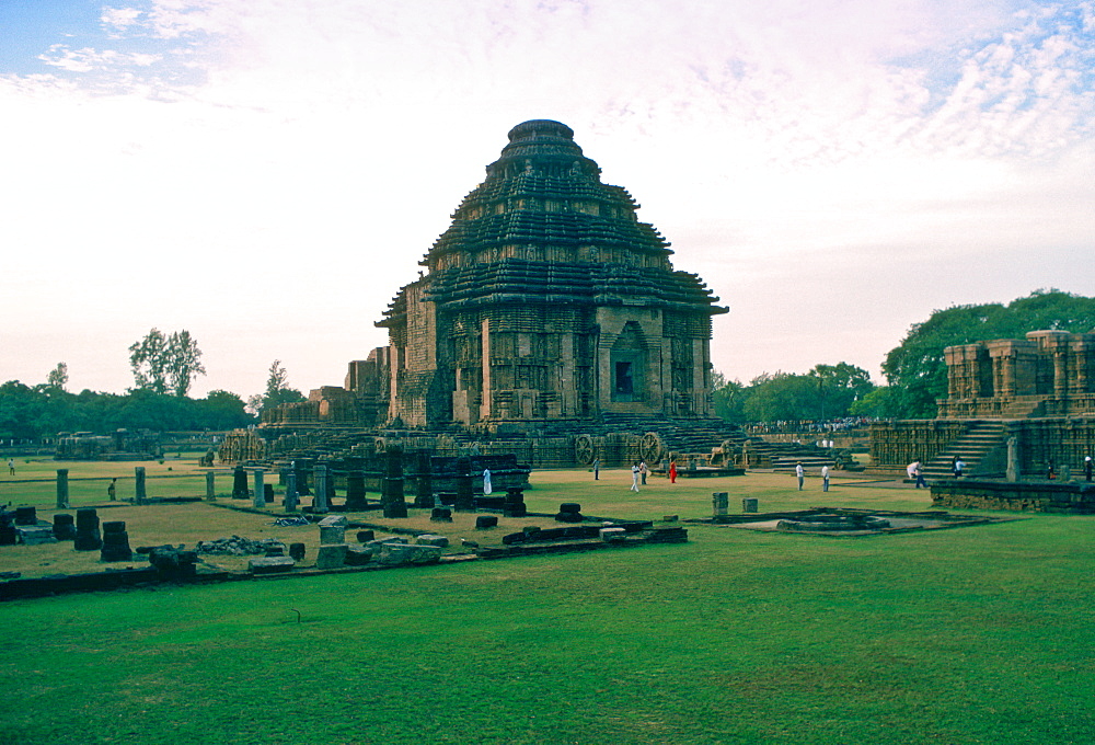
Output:
[[388,346],[351,362],[342,387],[264,411],[222,462],[337,460],[392,440],[531,468],[740,460],[747,438],[711,397],[711,320],[727,309],[600,173],[566,125],[514,127],[377,322]]

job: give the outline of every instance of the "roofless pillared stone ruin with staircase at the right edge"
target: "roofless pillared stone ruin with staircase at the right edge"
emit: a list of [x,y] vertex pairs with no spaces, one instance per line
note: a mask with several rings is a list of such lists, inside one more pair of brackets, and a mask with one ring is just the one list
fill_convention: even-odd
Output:
[[[1080,472],[1095,457],[1095,332],[1031,331],[1023,340],[949,346],[944,358],[947,398],[938,416],[872,425],[868,471],[903,472],[919,459],[927,481],[940,484],[960,457],[967,479],[1039,482]],[[987,508],[1035,498],[986,494]],[[953,488],[947,495],[947,506],[960,506],[950,501],[958,498]],[[1061,497],[1037,498],[1051,506]]]

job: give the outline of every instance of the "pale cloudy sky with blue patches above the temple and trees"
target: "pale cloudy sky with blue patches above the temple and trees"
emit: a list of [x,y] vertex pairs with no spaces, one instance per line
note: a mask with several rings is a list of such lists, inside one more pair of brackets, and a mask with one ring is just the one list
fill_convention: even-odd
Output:
[[304,392],[533,118],[729,313],[748,382],[914,323],[1095,296],[1095,0],[0,0],[0,380]]

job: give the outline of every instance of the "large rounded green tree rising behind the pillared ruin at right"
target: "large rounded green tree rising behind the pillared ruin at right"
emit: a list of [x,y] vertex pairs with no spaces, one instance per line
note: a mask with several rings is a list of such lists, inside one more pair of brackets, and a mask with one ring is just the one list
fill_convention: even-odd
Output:
[[1082,333],[1095,328],[1095,298],[1039,289],[1007,306],[953,306],[914,323],[883,363],[898,416],[931,419],[936,399],[947,394],[943,349],[993,339],[1022,339],[1028,331],[1056,329]]

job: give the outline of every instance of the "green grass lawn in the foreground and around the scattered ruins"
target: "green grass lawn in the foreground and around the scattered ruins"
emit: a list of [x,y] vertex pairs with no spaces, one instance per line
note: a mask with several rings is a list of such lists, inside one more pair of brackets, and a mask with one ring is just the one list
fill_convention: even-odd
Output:
[[[147,466],[150,494],[204,493]],[[534,512],[647,519],[707,516],[712,491],[762,511],[929,506],[766,473],[638,495],[622,471],[533,483]],[[53,506],[51,483],[0,488]],[[172,524],[269,527],[195,506],[116,509],[134,511],[135,546]],[[683,546],[4,603],[0,744],[1095,740],[1093,518],[861,539],[688,528]],[[47,548],[3,547],[0,570]]]

